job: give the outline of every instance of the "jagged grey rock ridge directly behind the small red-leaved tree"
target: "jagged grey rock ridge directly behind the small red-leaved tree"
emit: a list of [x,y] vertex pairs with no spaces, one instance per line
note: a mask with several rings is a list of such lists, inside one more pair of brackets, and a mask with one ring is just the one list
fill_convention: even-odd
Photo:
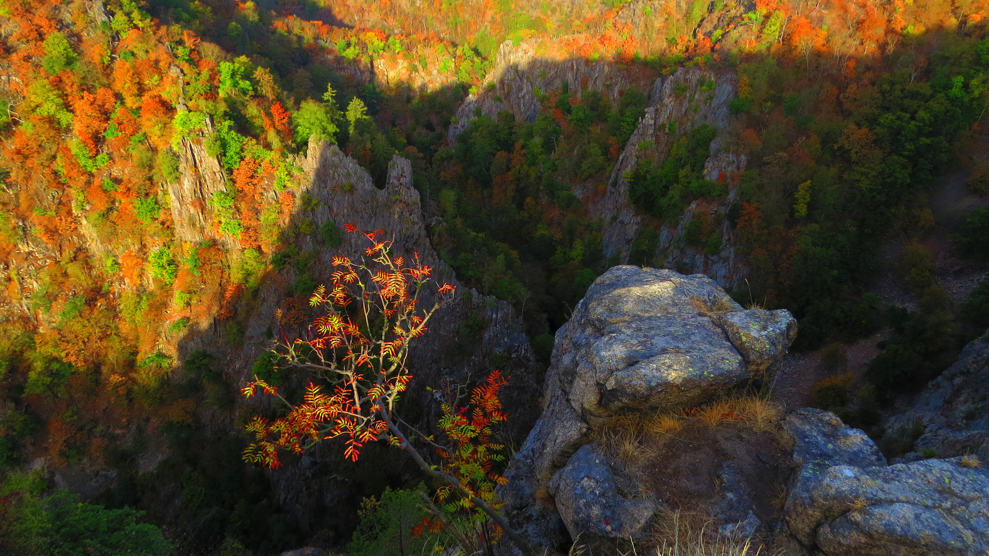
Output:
[[[528,373],[534,372],[534,356],[521,319],[506,302],[485,298],[464,288],[433,251],[423,229],[419,194],[412,187],[408,160],[393,157],[384,189],[376,188],[368,172],[353,158],[325,141],[311,140],[306,157],[298,158],[296,166],[302,172],[288,191],[297,198],[308,194],[316,202],[297,210],[292,217],[292,227],[298,229],[298,225],[308,220],[311,222],[306,224],[315,230],[327,222],[333,222],[341,231],[344,224],[353,224],[360,230],[384,230],[384,238],[394,241],[396,255],[407,259],[418,253],[422,262],[432,267],[433,278],[457,286],[455,301],[430,322],[429,331],[416,340],[415,348],[409,354],[406,363],[414,370],[415,381],[410,384],[405,398],[415,400],[414,403],[424,409],[423,414],[428,414],[435,408],[428,404],[427,396],[430,395],[422,385],[440,384],[444,379],[462,384],[476,380],[488,369],[490,358],[499,353],[514,369],[516,380],[513,382],[518,383],[505,388],[502,397],[506,411],[512,414],[511,424],[518,427],[530,424],[535,418],[528,411],[533,406],[534,393],[524,383],[527,378],[532,380]],[[304,251],[315,253],[308,270],[319,280],[328,280],[334,255],[356,257],[367,246],[366,236],[356,232],[344,233],[342,243],[334,248],[326,247],[315,233],[301,233],[297,240]],[[287,276],[270,275],[262,283],[254,299],[256,309],[247,324],[244,347],[228,361],[231,368],[240,372],[236,377],[239,381],[248,378],[251,363],[267,345],[266,328],[275,321],[274,313],[285,301],[287,283],[298,274],[291,267],[282,272]],[[419,300],[422,306],[431,306],[428,293],[420,295]],[[480,322],[484,329],[471,332],[474,335],[465,344],[460,336],[465,333],[463,327],[469,320],[475,324]],[[206,341],[211,339],[207,337]],[[203,347],[194,340],[187,340],[187,350]],[[299,380],[309,379],[299,377]],[[334,470],[340,461],[338,452],[337,444],[324,442],[307,451],[298,464],[286,465],[271,473],[272,485],[284,512],[298,518],[299,522],[309,522],[325,508],[347,504],[350,487],[341,479],[345,473]]]

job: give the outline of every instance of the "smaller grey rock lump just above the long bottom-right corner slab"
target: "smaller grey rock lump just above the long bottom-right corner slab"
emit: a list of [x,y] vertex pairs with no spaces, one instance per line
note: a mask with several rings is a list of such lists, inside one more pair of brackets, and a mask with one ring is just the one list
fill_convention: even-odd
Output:
[[786,416],[783,427],[793,436],[793,461],[796,463],[886,465],[886,458],[871,438],[861,430],[847,426],[831,412],[802,408]]

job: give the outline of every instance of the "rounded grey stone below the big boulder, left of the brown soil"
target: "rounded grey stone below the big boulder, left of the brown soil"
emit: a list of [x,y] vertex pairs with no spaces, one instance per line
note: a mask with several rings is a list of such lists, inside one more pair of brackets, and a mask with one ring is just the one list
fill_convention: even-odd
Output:
[[621,496],[607,461],[590,444],[553,476],[550,493],[572,538],[583,533],[627,539],[657,510],[655,501]]

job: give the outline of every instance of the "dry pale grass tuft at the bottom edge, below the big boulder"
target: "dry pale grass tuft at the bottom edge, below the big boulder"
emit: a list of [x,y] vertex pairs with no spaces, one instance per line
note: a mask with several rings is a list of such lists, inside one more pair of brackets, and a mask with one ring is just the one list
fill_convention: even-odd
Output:
[[710,517],[679,510],[665,511],[656,519],[659,537],[656,556],[759,556],[761,546],[745,538],[713,537],[717,524]]

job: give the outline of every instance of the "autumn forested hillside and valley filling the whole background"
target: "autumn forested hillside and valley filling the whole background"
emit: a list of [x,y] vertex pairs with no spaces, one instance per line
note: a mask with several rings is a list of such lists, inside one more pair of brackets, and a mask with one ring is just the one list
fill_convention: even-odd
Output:
[[[351,215],[311,195],[320,140],[380,190],[409,162],[421,212],[396,195],[386,232],[424,227],[439,273],[475,290],[431,332],[430,372],[514,371],[505,444],[554,334],[625,263],[724,276],[743,306],[791,311],[799,349],[889,327],[864,388],[818,401],[879,424],[989,325],[987,282],[963,302],[936,280],[936,261],[989,259],[987,18],[981,0],[0,0],[0,541],[391,550],[365,497],[413,508],[382,491],[423,477],[384,445],[377,471],[241,457],[248,419],[287,410],[238,391],[284,377],[302,396],[263,350],[305,333],[352,246]],[[958,168],[981,200],[941,211]],[[887,267],[906,309],[870,290]],[[315,476],[353,485],[286,494]],[[298,510],[320,496],[340,510]],[[65,526],[87,519],[106,538]]]

